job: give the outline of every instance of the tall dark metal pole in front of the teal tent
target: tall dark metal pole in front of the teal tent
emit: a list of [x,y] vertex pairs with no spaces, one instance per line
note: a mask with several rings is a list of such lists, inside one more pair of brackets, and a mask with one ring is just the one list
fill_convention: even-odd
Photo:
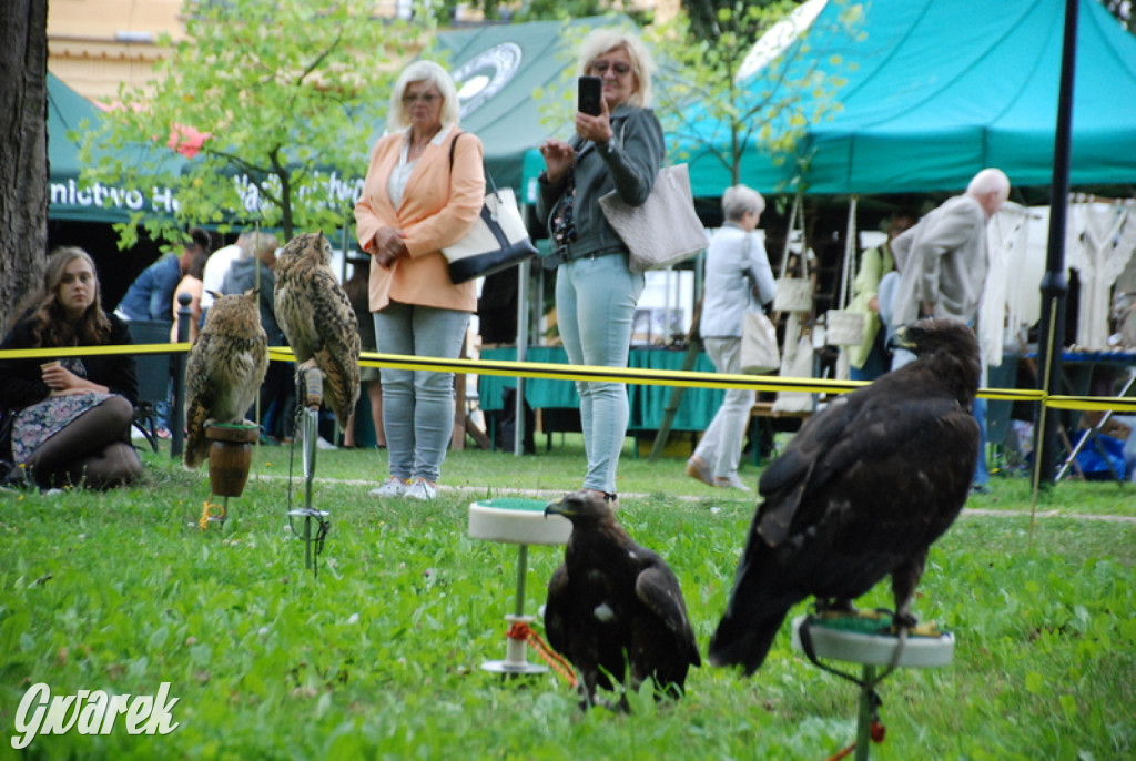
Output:
[[[1061,83],[1058,92],[1058,123],[1053,141],[1053,181],[1050,184],[1050,237],[1042,278],[1042,331],[1037,342],[1037,358],[1042,391],[1060,393],[1061,352],[1064,349],[1066,299],[1069,282],[1066,277],[1064,239],[1069,199],[1069,151],[1072,132],[1074,73],[1077,62],[1078,0],[1066,0],[1064,41],[1061,47]],[[1050,348],[1052,346],[1052,353]],[[1055,483],[1058,465],[1058,416],[1039,416],[1044,424],[1035,433],[1037,452],[1035,480],[1049,487]]]

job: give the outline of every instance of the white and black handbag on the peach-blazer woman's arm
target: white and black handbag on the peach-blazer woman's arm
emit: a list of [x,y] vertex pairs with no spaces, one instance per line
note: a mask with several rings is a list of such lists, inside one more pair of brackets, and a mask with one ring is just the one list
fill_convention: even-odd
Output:
[[[450,143],[450,172],[453,172],[453,149],[459,134]],[[532,259],[538,251],[528,240],[528,229],[520,217],[517,199],[511,187],[498,190],[493,175],[485,170],[485,178],[493,189],[485,194],[482,212],[460,241],[442,249],[450,262],[450,279],[465,283],[485,277]]]

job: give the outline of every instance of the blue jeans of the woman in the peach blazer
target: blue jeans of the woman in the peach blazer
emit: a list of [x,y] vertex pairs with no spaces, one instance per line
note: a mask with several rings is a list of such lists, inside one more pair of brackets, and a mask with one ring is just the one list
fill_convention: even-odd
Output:
[[[457,359],[469,312],[392,301],[374,312],[384,354]],[[384,367],[383,427],[391,475],[437,483],[453,433],[453,373]]]

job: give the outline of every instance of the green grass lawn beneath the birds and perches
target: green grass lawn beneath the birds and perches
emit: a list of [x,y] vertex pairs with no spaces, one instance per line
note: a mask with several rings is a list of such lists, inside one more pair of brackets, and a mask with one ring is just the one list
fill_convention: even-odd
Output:
[[[787,624],[753,678],[703,667],[684,700],[636,695],[632,716],[582,717],[551,674],[481,669],[504,657],[517,551],[470,540],[467,508],[506,490],[577,487],[578,437],[554,444],[525,458],[453,452],[450,488],[429,504],[367,496],[382,453],[319,452],[314,505],[332,532],[318,577],[287,525],[286,448],[257,452],[224,529],[197,527],[204,473],[162,455],[147,455],[147,483],[130,490],[0,496],[0,756],[16,754],[17,706],[39,683],[153,695],[168,681],[181,725],[131,736],[120,717],[109,735],[39,737],[31,758],[820,761],[849,745],[855,687],[794,651]],[[743,477],[755,485],[758,473]],[[932,550],[916,603],[954,633],[954,662],[883,684],[887,737],[872,758],[1131,758],[1131,485],[1062,483],[1033,527],[1027,479],[992,486]],[[621,522],[678,575],[704,652],[753,497],[685,477],[680,459],[633,459],[629,442],[619,492]],[[296,478],[292,503],[302,495]],[[561,554],[531,549],[526,612]],[[861,604],[889,605],[887,585]]]

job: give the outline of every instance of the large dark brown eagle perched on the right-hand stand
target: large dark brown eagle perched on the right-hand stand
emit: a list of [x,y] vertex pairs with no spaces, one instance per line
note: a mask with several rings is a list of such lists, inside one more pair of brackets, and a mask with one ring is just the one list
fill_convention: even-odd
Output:
[[761,474],[765,501],[710,641],[715,666],[753,674],[794,604],[851,609],[887,575],[895,621],[914,624],[927,550],[962,510],[978,461],[980,370],[975,335],[957,320],[896,337],[916,361],[828,404]]

